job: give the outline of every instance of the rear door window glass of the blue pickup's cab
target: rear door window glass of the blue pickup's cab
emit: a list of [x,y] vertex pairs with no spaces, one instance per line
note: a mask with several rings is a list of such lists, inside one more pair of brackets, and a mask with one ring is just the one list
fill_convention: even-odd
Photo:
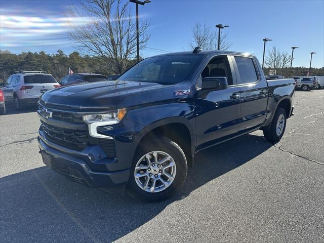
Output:
[[238,84],[254,83],[258,80],[257,71],[255,69],[252,58],[234,57],[238,68],[239,80]]

